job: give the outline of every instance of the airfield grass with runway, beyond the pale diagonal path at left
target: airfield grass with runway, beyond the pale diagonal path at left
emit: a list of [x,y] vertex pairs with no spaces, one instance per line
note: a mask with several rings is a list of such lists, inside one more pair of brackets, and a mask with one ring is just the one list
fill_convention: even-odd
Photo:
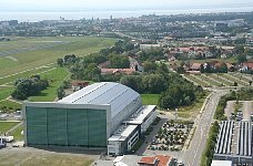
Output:
[[[115,39],[97,37],[14,38],[0,42],[0,77],[55,63],[65,54],[79,56],[111,46]],[[8,50],[8,51],[7,51]]]

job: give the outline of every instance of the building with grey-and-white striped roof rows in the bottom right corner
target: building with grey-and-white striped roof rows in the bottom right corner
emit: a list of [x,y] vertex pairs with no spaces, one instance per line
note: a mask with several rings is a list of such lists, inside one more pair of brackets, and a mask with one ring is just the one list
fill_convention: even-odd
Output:
[[214,159],[252,164],[252,122],[224,121],[220,125]]

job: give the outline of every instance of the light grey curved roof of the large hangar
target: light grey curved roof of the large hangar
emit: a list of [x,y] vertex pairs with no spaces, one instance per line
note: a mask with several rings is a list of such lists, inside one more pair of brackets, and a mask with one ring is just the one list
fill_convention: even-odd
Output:
[[113,117],[139,96],[139,93],[120,83],[101,82],[89,85],[60,100],[59,103],[110,104]]

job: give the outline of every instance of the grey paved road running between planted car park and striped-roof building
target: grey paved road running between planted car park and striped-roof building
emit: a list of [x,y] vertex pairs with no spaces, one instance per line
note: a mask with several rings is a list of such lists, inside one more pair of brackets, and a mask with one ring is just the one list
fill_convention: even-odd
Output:
[[214,93],[206,103],[205,110],[199,118],[195,120],[196,129],[192,138],[191,145],[183,154],[183,163],[185,166],[199,166],[201,162],[201,155],[204,151],[206,136],[210,131],[210,126],[213,121],[213,115],[222,95],[227,91],[217,91]]

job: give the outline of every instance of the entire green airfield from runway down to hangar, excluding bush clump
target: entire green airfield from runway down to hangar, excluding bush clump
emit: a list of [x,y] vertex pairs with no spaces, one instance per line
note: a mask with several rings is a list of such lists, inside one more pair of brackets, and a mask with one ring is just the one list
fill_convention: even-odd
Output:
[[0,42],[0,106],[20,107],[17,103],[7,101],[13,92],[13,82],[20,77],[39,74],[52,82],[50,86],[29,100],[34,102],[53,101],[57,89],[64,79],[69,79],[65,69],[58,68],[57,59],[67,54],[84,56],[113,45],[115,39],[98,37],[43,37],[11,38],[11,41]]

